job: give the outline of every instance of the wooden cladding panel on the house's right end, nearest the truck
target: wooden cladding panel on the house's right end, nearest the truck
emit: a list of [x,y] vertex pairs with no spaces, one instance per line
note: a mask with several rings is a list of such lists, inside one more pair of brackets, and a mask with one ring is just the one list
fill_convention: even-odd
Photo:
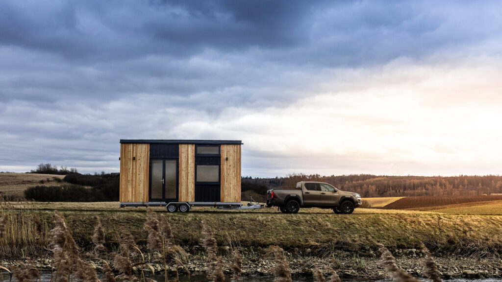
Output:
[[221,202],[240,202],[240,145],[221,145]]

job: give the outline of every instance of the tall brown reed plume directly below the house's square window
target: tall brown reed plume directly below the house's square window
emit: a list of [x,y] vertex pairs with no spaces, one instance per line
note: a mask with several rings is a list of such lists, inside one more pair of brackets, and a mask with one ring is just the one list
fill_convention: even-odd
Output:
[[204,221],[202,223],[202,239],[201,244],[206,249],[209,259],[207,265],[207,277],[214,282],[223,282],[225,275],[223,270],[225,263],[220,255],[217,255],[218,244],[214,238],[213,231]]

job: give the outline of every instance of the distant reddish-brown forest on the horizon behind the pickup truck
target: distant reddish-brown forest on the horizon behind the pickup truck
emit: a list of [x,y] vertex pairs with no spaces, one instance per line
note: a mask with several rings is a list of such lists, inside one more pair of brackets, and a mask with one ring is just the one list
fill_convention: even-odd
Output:
[[[502,193],[502,176],[377,176],[342,175],[320,176],[293,174],[287,177],[242,177],[245,195],[262,194],[271,188],[294,188],[299,181],[323,181],[343,190],[356,192],[361,197],[395,196],[475,196]],[[243,198],[243,200],[245,200]]]

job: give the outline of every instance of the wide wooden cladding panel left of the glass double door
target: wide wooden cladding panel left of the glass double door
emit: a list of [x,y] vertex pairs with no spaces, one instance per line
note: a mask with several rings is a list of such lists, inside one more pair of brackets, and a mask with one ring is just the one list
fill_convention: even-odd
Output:
[[120,202],[148,202],[149,164],[149,144],[120,144]]

